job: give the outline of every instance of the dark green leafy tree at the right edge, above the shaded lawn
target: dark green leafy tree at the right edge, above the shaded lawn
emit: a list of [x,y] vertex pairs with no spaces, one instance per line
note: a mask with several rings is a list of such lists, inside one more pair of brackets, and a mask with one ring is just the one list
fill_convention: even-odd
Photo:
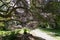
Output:
[[[52,20],[54,20],[52,25],[56,25],[54,28],[58,28],[58,21],[60,20],[60,2],[48,2],[44,7],[44,12],[52,14]],[[50,22],[52,22],[52,20]]]

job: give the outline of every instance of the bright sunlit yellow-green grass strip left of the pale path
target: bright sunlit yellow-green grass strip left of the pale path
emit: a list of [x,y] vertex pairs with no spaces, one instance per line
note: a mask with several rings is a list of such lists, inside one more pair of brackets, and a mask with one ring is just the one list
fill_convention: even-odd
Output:
[[16,29],[16,30],[13,30],[13,31],[0,31],[0,36],[9,36],[11,35],[13,32],[14,34],[23,34],[24,33],[24,29],[26,29],[27,33],[30,31],[29,29],[27,28],[22,28],[22,29]]

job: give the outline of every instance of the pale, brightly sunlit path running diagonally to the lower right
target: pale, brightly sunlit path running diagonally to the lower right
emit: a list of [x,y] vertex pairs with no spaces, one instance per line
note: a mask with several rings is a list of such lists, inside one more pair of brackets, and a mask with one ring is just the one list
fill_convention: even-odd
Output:
[[33,36],[41,37],[41,38],[44,38],[44,39],[46,39],[46,40],[55,40],[52,36],[48,35],[48,34],[45,33],[45,32],[42,32],[42,31],[39,30],[39,29],[32,30],[30,33],[31,33]]

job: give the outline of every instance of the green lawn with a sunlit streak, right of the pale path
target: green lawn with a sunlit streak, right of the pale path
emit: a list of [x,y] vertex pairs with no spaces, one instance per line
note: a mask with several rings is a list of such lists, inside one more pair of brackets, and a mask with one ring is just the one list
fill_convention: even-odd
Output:
[[48,35],[54,37],[56,40],[60,40],[60,29],[47,29],[47,28],[40,28],[40,30],[44,31]]

